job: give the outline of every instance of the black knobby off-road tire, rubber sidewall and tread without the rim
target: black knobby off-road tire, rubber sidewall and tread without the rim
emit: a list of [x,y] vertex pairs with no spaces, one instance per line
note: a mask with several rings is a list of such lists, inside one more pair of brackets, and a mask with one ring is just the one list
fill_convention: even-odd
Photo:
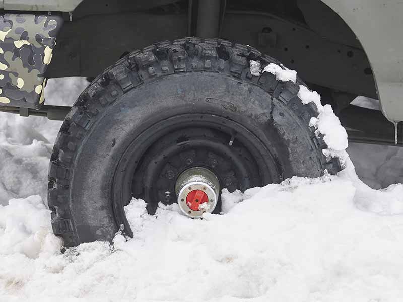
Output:
[[[298,98],[303,82],[278,81],[268,72],[252,75],[250,60],[263,67],[281,65],[225,40],[166,41],[126,55],[87,87],[65,118],[49,167],[51,223],[65,247],[112,240],[119,225],[111,187],[121,154],[136,129],[155,116],[169,118],[171,110],[187,106],[237,119],[249,130],[257,129],[262,140],[275,140],[279,181],[341,170],[338,159],[323,155],[327,146],[309,127],[318,112],[313,103],[303,105]],[[264,131],[270,132],[267,137]]]

